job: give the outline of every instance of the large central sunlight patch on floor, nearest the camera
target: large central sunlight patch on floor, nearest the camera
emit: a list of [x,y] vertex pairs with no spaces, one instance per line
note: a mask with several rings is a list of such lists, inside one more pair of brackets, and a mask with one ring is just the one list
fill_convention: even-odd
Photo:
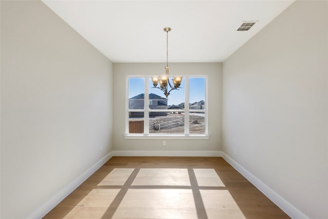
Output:
[[112,218],[198,218],[191,189],[129,189]]

